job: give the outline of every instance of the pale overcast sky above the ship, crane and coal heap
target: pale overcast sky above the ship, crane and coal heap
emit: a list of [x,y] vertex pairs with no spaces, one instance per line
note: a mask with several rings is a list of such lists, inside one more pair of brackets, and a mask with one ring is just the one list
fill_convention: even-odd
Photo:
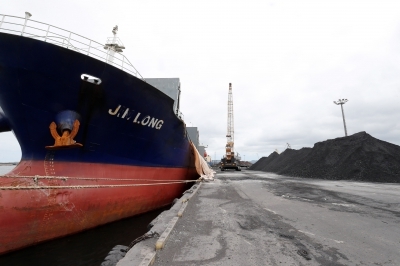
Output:
[[[0,0],[98,42],[118,35],[143,77],[178,77],[181,111],[211,157],[224,154],[229,83],[235,149],[255,160],[366,131],[400,145],[400,1]],[[12,133],[0,161],[19,161]]]

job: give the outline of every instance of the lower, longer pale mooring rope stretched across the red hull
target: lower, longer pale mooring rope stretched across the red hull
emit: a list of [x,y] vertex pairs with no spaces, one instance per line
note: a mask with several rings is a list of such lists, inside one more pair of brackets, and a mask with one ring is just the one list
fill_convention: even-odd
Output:
[[80,186],[15,186],[0,187],[0,190],[33,190],[33,189],[83,189],[83,188],[119,188],[119,187],[139,187],[139,186],[160,186],[197,182],[197,180],[181,180],[175,182],[153,183],[153,184],[125,184],[125,185],[80,185]]

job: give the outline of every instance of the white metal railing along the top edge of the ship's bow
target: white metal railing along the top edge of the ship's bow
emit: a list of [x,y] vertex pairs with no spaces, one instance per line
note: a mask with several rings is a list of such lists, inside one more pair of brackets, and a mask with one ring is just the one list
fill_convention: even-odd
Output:
[[[71,31],[27,18],[0,14],[0,32],[21,35],[71,49],[106,62],[144,80],[123,54],[111,53],[109,49],[104,49],[104,44]],[[109,60],[110,56],[113,57],[112,60]]]

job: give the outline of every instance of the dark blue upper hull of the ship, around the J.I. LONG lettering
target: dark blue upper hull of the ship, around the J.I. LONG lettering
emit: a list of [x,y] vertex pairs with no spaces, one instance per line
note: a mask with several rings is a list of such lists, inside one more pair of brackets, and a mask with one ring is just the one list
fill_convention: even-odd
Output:
[[[0,51],[0,106],[21,145],[22,160],[43,160],[48,152],[44,147],[54,143],[50,123],[58,113],[73,110],[81,117],[75,140],[83,147],[58,153],[60,160],[162,167],[192,164],[185,125],[173,113],[173,100],[145,81],[30,38],[0,33]],[[100,88],[91,88],[82,74],[100,78],[102,83],[92,86]],[[118,106],[119,113],[111,115]],[[129,120],[128,115],[122,118],[124,107],[129,108]],[[146,123],[151,118],[163,121],[160,129]]]

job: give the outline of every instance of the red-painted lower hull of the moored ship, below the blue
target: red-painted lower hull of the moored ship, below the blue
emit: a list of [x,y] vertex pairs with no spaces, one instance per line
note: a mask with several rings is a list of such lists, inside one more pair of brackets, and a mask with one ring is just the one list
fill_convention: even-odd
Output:
[[0,187],[18,189],[0,190],[0,254],[168,205],[185,189],[179,181],[198,177],[195,168],[43,161],[8,176]]

